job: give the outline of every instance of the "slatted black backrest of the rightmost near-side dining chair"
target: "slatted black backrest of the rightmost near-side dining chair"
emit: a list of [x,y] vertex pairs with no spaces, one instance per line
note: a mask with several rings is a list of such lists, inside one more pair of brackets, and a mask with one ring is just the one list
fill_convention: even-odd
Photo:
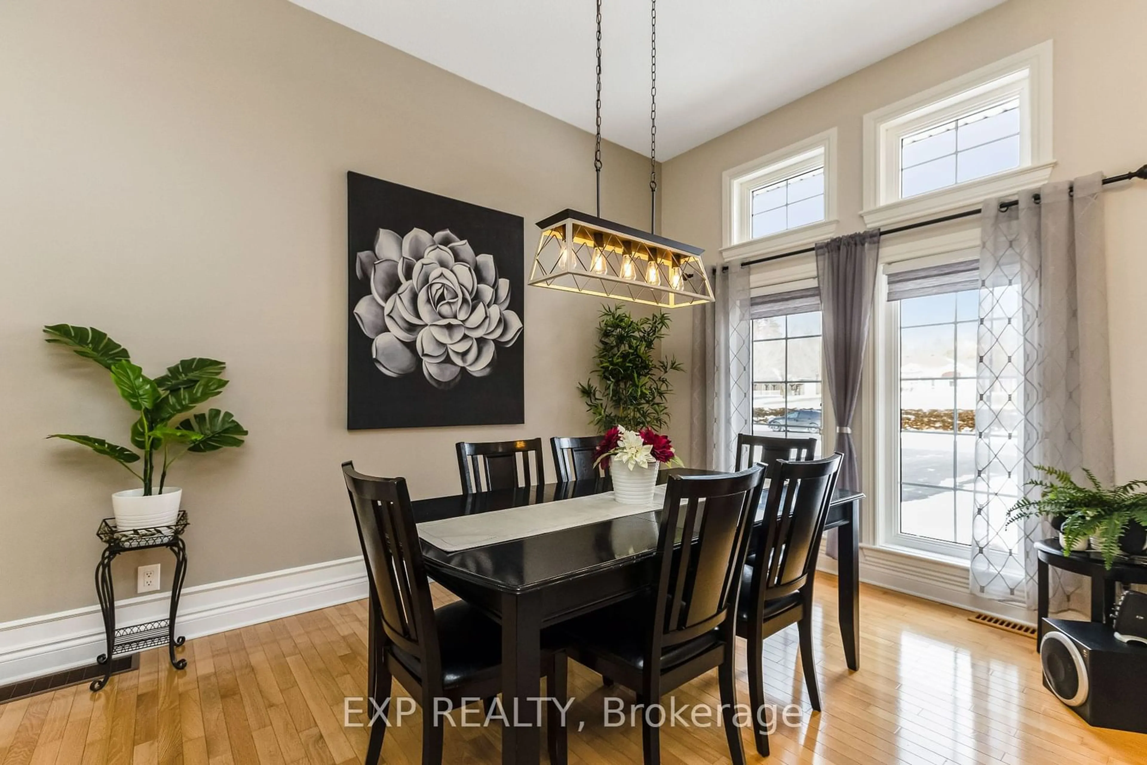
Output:
[[758,604],[804,586],[817,565],[841,455],[768,467],[764,523],[755,551],[751,593]]

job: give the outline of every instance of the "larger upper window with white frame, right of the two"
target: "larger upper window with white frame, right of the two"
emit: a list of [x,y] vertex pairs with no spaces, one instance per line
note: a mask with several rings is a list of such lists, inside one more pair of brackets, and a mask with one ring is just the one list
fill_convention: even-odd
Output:
[[1051,175],[1052,44],[865,116],[868,226],[978,204]]

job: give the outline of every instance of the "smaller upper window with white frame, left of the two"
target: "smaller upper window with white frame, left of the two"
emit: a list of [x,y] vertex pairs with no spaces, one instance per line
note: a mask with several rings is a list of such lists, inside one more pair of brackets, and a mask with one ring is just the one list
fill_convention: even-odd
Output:
[[835,154],[834,128],[726,171],[725,259],[830,236]]

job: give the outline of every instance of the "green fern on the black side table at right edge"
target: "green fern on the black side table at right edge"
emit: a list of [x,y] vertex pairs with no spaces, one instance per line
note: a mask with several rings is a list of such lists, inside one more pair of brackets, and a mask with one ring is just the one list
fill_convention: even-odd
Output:
[[1109,569],[1121,553],[1138,555],[1147,544],[1147,481],[1103,486],[1084,468],[1090,485],[1080,486],[1067,470],[1037,466],[1046,479],[1029,481],[1038,499],[1021,499],[1008,510],[1007,523],[1046,517],[1059,529],[1064,555],[1094,547]]

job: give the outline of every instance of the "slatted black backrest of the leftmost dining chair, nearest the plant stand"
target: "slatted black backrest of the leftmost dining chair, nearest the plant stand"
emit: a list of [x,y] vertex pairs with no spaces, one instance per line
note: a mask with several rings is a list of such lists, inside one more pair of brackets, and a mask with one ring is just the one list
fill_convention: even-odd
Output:
[[434,602],[405,478],[375,478],[343,462],[343,478],[384,639],[440,673]]

